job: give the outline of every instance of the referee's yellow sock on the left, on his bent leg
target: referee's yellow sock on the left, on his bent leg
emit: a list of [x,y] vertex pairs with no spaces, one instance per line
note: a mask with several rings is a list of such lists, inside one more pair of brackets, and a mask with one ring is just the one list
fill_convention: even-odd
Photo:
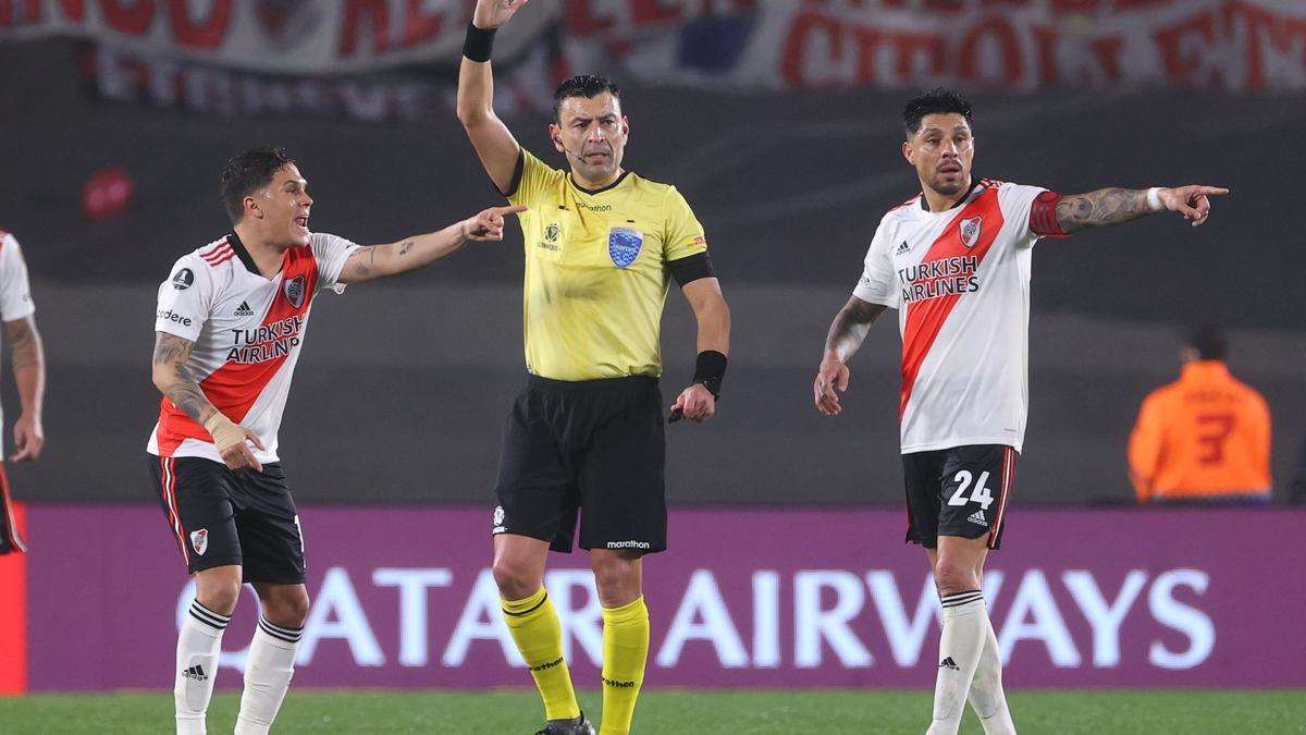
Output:
[[549,592],[541,587],[524,600],[503,600],[503,617],[545,700],[545,719],[580,717],[571,671],[563,660],[563,626]]

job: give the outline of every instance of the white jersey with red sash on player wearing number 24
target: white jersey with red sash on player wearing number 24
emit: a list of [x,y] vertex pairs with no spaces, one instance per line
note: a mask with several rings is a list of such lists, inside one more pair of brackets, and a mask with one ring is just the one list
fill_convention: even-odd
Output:
[[980,179],[957,205],[891,209],[853,294],[899,310],[902,454],[965,445],[1020,451],[1029,408],[1029,265],[1057,233],[1057,196]]

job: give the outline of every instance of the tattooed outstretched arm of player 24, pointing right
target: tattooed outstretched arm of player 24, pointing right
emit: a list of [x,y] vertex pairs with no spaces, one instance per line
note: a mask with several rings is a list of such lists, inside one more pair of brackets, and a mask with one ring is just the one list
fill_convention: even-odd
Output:
[[1178,212],[1196,228],[1211,216],[1211,196],[1229,194],[1228,188],[1188,184],[1174,188],[1100,188],[1088,194],[1062,196],[1057,204],[1057,224],[1062,231],[1119,225],[1153,212]]

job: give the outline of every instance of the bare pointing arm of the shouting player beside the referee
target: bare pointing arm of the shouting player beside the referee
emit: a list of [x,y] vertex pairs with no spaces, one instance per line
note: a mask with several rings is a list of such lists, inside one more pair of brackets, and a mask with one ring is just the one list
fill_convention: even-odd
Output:
[[525,211],[525,207],[491,207],[443,230],[385,245],[364,245],[345,260],[338,280],[342,284],[360,284],[406,273],[435,263],[468,241],[500,241],[504,218]]

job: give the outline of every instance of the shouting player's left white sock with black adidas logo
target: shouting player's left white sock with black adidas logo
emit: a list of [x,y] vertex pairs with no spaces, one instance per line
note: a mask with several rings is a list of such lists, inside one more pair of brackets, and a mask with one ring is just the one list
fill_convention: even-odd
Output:
[[204,717],[213,698],[213,677],[218,675],[218,657],[222,655],[222,632],[231,616],[218,615],[200,604],[191,603],[191,612],[176,636],[176,680],[172,684],[172,702],[176,708],[178,735],[204,735]]

